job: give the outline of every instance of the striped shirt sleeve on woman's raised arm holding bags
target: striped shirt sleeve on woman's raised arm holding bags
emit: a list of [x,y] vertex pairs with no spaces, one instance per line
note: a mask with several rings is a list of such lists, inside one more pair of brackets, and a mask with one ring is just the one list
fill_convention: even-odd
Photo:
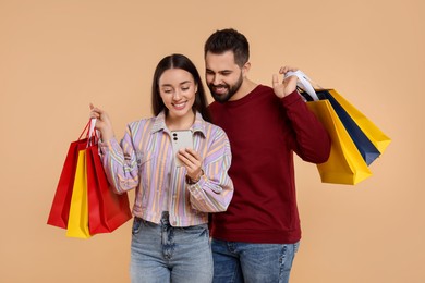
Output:
[[122,194],[138,185],[138,165],[132,143],[132,133],[127,126],[121,144],[112,138],[100,143],[102,163],[109,183],[118,194]]

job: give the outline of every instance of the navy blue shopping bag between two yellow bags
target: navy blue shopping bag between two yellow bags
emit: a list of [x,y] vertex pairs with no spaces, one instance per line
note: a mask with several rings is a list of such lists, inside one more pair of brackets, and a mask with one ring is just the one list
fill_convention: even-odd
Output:
[[[341,120],[351,139],[354,142],[355,147],[362,155],[364,161],[369,165],[376,158],[380,156],[379,150],[368,139],[365,133],[354,122],[351,115],[335,99],[335,96],[339,94],[335,89],[316,89],[316,95],[320,100],[329,100],[338,118]],[[340,96],[339,96],[340,97]]]

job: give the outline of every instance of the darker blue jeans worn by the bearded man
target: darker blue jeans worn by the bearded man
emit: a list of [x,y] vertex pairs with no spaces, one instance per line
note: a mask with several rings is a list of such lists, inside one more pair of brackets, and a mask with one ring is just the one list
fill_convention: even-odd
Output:
[[212,239],[214,283],[287,283],[299,245]]

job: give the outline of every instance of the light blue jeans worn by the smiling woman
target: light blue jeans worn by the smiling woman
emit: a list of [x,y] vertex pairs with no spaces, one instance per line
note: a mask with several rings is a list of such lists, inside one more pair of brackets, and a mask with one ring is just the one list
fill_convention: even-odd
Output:
[[132,231],[132,283],[212,281],[207,224],[173,227],[165,212],[160,224],[135,218]]

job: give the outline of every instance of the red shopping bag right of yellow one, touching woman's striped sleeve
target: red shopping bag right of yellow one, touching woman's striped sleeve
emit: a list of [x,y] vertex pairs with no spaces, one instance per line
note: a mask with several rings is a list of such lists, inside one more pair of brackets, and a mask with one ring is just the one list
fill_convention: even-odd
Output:
[[110,187],[98,153],[97,137],[86,149],[88,227],[92,235],[110,233],[132,218],[126,193]]

